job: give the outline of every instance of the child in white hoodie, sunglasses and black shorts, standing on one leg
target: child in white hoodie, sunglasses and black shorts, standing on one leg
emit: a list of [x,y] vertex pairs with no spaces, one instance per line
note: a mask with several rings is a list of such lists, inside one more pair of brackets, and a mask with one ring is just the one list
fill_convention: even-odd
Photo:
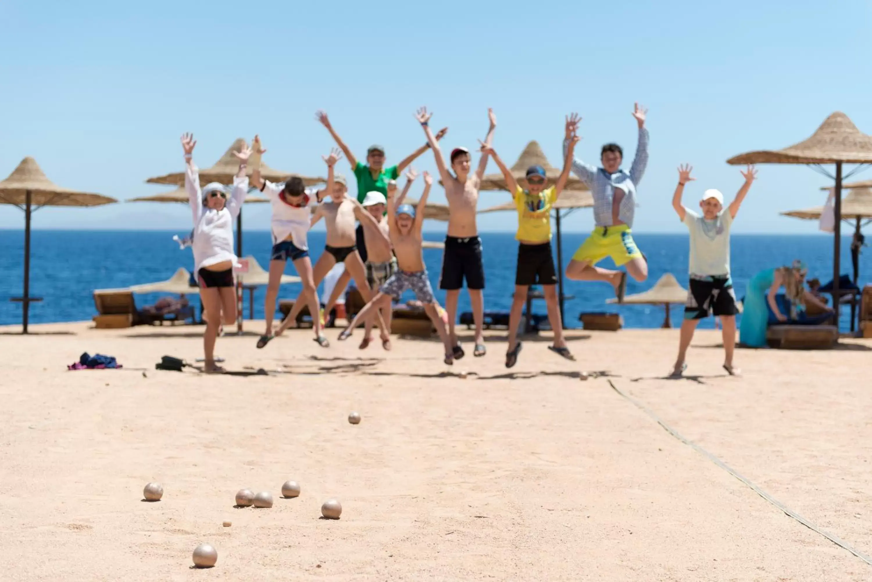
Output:
[[194,273],[200,285],[203,318],[206,319],[203,369],[207,373],[220,373],[224,370],[215,365],[215,339],[221,321],[230,325],[236,320],[233,223],[249,190],[245,170],[251,150],[245,146],[241,152],[234,152],[239,158],[239,172],[234,177],[233,188],[212,182],[201,189],[199,170],[191,157],[196,145],[193,134],[181,136],[186,161],[185,189],[194,217]]

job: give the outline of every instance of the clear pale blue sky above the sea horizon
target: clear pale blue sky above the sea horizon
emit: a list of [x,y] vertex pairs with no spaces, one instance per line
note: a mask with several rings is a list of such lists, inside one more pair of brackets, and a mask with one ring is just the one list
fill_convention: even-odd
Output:
[[[359,157],[378,142],[396,162],[424,141],[412,119],[421,105],[450,127],[446,148],[475,145],[492,106],[504,159],[538,140],[555,166],[563,116],[577,111],[577,154],[596,161],[614,140],[629,166],[637,100],[650,108],[651,161],[635,229],[679,231],[670,200],[680,162],[698,177],[687,202],[705,188],[729,200],[741,183],[725,162],[733,154],[803,140],[837,110],[872,133],[872,4],[835,4],[4,0],[0,175],[32,155],[68,188],[156,194],[164,188],[144,181],[182,168],[183,131],[196,135],[201,167],[260,133],[270,166],[323,175],[333,143],[318,108]],[[433,171],[432,154],[416,166]],[[809,168],[760,167],[735,231],[814,232],[778,212],[821,204],[825,185]],[[433,199],[444,201],[440,188]],[[507,199],[485,192],[480,207]],[[181,206],[127,203],[43,209],[34,227],[187,229],[189,219]],[[22,225],[0,206],[0,228]],[[268,229],[269,206],[247,207],[246,225]],[[480,217],[482,230],[515,225],[511,213]],[[565,228],[591,226],[582,210]]]

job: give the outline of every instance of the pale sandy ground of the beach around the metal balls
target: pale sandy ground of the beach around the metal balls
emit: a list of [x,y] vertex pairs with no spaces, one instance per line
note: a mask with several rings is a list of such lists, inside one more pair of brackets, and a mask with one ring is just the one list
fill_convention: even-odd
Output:
[[[872,579],[609,385],[872,554],[869,341],[739,351],[731,378],[699,332],[697,375],[664,380],[674,331],[574,332],[576,363],[530,339],[512,373],[498,334],[446,373],[434,342],[360,352],[331,331],[325,350],[295,331],[219,339],[247,374],[206,376],[154,370],[199,356],[201,328],[33,330],[0,329],[3,580]],[[85,351],[125,369],[67,372]],[[274,507],[235,509],[243,487]],[[320,519],[333,496],[342,519]],[[191,568],[201,542],[215,568]]]

